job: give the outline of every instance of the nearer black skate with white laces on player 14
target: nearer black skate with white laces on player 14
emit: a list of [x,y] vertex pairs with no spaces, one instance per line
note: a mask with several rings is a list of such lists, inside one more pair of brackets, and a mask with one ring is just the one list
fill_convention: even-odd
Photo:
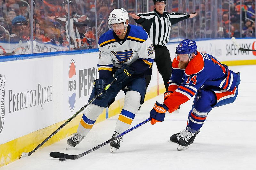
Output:
[[189,147],[189,145],[193,143],[193,141],[196,137],[196,134],[197,133],[192,133],[187,130],[184,131],[182,133],[182,137],[177,142],[179,144],[177,150],[182,151],[182,150],[187,149]]

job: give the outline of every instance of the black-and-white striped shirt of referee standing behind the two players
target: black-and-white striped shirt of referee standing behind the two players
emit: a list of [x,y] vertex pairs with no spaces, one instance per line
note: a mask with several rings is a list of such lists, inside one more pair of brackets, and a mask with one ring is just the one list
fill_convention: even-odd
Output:
[[156,9],[152,12],[138,13],[137,15],[140,19],[134,19],[135,22],[142,25],[153,44],[159,46],[164,46],[169,42],[171,25],[190,17],[186,13],[163,12],[163,14],[160,14]]

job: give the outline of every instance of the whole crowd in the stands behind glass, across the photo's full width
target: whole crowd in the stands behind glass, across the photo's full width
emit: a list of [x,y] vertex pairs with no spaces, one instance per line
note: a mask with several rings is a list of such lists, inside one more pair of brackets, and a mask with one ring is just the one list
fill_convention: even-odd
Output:
[[[201,0],[201,4],[199,1],[189,0],[186,5],[185,0],[168,0],[168,12],[196,11],[199,15],[194,20],[186,21],[186,27],[182,26],[182,22],[173,26],[171,38],[255,37],[255,0],[242,0],[242,5],[240,0],[217,1],[221,2],[218,6],[220,19],[217,30],[212,31],[211,0]],[[96,6],[95,0],[33,0],[33,4],[30,4],[30,0],[2,0],[0,55],[97,48],[97,38],[108,31],[109,13],[118,7],[129,13],[154,9],[151,0],[148,0],[148,8],[146,0],[96,0]],[[135,24],[132,18],[129,22]],[[213,33],[216,33],[215,37]]]

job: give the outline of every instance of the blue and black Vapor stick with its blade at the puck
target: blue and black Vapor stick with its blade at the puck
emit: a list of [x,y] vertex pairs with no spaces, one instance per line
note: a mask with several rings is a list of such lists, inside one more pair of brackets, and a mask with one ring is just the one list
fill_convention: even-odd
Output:
[[139,124],[137,124],[136,126],[133,126],[131,129],[128,129],[126,131],[124,131],[123,133],[121,133],[120,135],[116,136],[116,137],[113,137],[109,140],[107,140],[106,142],[103,142],[102,144],[99,144],[98,146],[95,146],[94,148],[84,152],[84,153],[81,153],[81,154],[78,154],[78,155],[68,155],[68,154],[65,154],[65,153],[60,153],[60,152],[51,152],[50,153],[50,157],[53,157],[53,158],[66,158],[66,159],[78,159],[78,158],[81,158],[82,156],[84,155],[87,155],[88,153],[91,153],[99,148],[101,148],[102,146],[105,146],[106,144],[109,144],[111,141],[113,140],[116,140],[117,138],[125,135],[126,133],[129,133],[130,131],[140,127],[141,125],[149,122],[151,120],[151,118],[148,118],[146,119],[145,121],[143,122],[140,122]]

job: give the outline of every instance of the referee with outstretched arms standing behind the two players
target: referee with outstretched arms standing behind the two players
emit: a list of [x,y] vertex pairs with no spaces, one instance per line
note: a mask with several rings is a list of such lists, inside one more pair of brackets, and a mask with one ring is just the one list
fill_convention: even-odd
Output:
[[[195,12],[190,15],[186,13],[169,13],[164,11],[166,0],[153,0],[153,2],[155,9],[152,12],[138,13],[136,15],[130,13],[130,15],[136,23],[143,26],[152,40],[155,48],[154,61],[156,62],[157,69],[164,80],[165,89],[168,91],[167,82],[172,74],[172,61],[169,50],[165,45],[169,42],[171,25],[184,19],[193,18],[197,13]],[[147,75],[145,78],[147,88],[150,83],[151,76]],[[141,104],[143,104],[143,102]]]

